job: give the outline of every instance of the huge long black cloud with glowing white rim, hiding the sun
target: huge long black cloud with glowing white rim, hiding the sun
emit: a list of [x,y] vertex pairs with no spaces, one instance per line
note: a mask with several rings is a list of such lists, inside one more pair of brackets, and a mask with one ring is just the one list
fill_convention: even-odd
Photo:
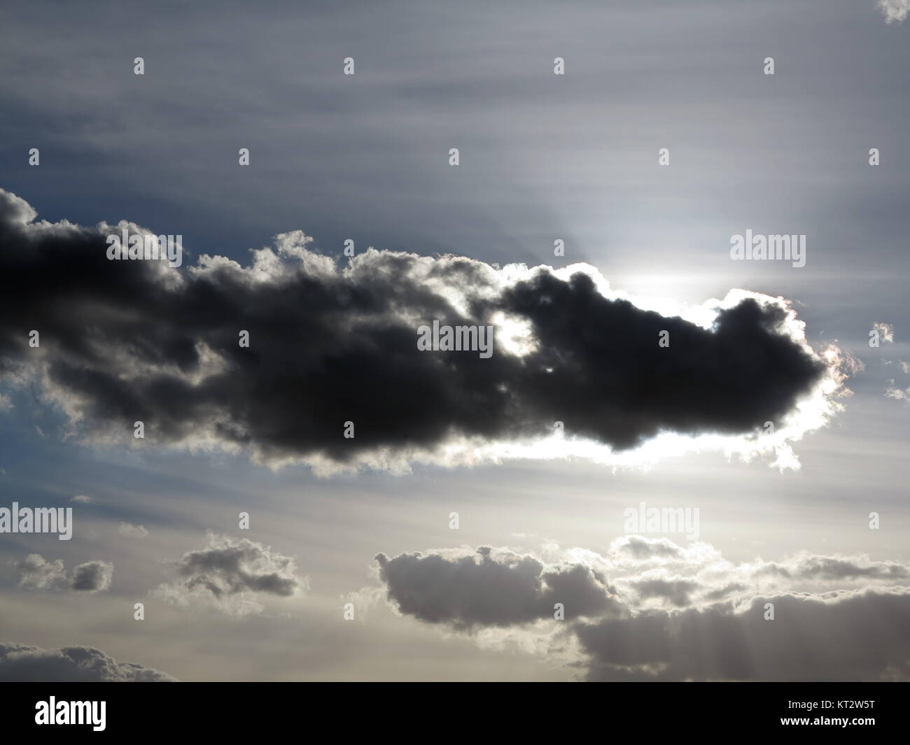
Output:
[[[585,265],[500,268],[369,249],[339,268],[299,231],[253,251],[246,267],[203,256],[171,269],[107,260],[106,236],[121,229],[147,233],[35,222],[31,206],[0,191],[0,374],[37,378],[68,415],[66,434],[83,441],[246,448],[320,473],[619,458],[672,436],[684,448],[704,436],[720,438],[712,447],[784,452],[789,463],[788,438],[837,409],[834,352],[809,347],[781,298],[737,290],[662,315]],[[495,326],[492,357],[420,351],[417,329],[434,320]],[[40,332],[40,347],[23,329]],[[779,437],[759,442],[768,420]],[[144,439],[133,437],[136,421]],[[347,421],[354,438],[343,436]],[[553,443],[556,421],[566,437]]]

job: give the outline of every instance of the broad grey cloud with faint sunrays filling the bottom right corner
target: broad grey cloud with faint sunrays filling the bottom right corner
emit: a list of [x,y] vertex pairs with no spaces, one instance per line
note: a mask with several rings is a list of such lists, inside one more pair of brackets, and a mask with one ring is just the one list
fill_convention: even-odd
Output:
[[[774,619],[764,619],[773,603]],[[786,594],[581,622],[590,680],[906,680],[910,589]]]

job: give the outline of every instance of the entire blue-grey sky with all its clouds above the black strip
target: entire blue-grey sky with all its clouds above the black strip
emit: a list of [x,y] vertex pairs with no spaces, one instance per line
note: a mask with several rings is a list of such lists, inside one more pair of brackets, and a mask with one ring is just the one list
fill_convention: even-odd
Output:
[[6,2],[0,680],[910,679],[908,13]]

